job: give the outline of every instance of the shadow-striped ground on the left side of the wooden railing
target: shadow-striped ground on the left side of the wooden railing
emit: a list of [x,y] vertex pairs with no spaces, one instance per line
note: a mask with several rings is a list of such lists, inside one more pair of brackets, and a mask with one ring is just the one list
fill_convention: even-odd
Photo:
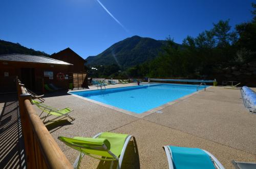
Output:
[[0,168],[26,168],[16,93],[0,94]]

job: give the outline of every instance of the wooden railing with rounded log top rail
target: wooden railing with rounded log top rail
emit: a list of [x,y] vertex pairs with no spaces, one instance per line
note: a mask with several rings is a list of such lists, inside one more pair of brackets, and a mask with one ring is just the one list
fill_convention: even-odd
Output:
[[16,79],[28,168],[72,168],[31,104],[31,94]]

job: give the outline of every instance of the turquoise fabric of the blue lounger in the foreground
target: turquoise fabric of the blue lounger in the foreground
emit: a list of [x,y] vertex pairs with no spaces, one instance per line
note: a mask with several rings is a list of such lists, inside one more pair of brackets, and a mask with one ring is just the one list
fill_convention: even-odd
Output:
[[175,169],[215,169],[208,154],[198,148],[169,146]]

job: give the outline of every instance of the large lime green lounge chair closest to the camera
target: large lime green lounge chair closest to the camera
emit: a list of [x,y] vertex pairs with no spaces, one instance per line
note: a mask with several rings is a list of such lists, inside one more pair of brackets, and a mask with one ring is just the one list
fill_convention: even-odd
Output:
[[81,159],[84,155],[103,161],[111,161],[111,168],[113,167],[113,162],[118,161],[117,168],[120,168],[127,144],[132,137],[135,140],[132,135],[104,132],[95,135],[93,138],[60,136],[58,139],[80,152],[73,164],[74,168],[80,167]]

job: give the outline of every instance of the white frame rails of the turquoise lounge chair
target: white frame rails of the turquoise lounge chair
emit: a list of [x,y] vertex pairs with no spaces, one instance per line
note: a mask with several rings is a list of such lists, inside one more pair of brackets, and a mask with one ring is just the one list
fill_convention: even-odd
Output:
[[[168,160],[168,163],[169,163],[169,169],[174,169],[172,150],[170,150],[168,146],[164,146],[163,149],[164,149],[164,151],[166,153],[166,156],[167,156],[167,160]],[[206,154],[209,155],[212,163],[214,163],[214,165],[215,165],[215,167],[217,169],[225,169],[224,166],[220,163],[220,161],[214,155],[212,155],[211,153],[207,152],[206,150],[203,150],[203,151]]]

